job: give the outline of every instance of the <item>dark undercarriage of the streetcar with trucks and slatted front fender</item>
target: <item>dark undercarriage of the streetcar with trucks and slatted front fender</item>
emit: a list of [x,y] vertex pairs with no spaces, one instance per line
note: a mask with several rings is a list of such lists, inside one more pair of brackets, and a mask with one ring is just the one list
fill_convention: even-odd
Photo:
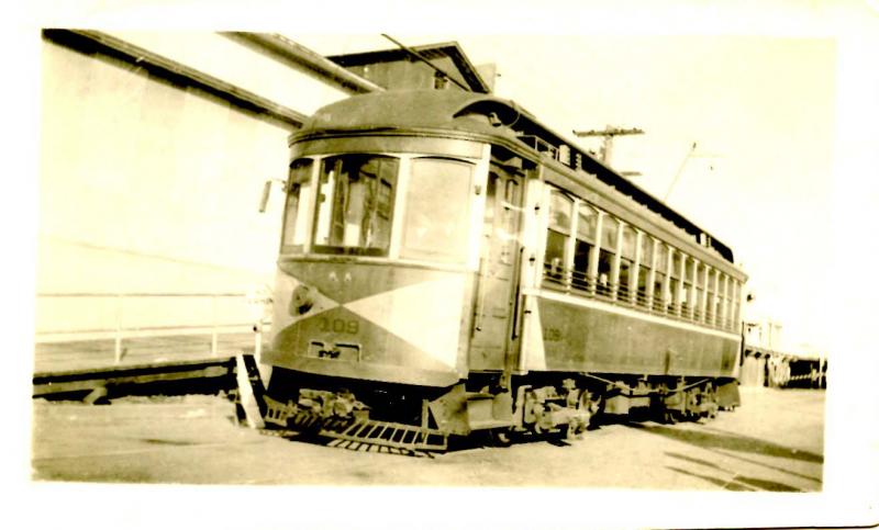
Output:
[[713,377],[536,373],[501,383],[475,374],[448,388],[388,387],[290,373],[255,397],[269,429],[411,453],[443,452],[450,438],[472,435],[494,446],[520,436],[572,440],[636,411],[666,424],[706,421],[738,405],[737,382]]

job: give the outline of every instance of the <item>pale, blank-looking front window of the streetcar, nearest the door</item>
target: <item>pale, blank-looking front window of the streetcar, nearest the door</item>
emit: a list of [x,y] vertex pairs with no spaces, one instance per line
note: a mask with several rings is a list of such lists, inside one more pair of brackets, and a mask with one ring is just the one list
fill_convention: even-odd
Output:
[[401,258],[467,260],[472,171],[474,165],[458,160],[412,160]]

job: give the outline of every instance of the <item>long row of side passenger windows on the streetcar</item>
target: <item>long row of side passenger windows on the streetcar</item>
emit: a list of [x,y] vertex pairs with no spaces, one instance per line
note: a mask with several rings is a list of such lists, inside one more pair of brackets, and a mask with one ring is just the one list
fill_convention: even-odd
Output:
[[735,329],[738,281],[557,188],[548,199],[545,286]]

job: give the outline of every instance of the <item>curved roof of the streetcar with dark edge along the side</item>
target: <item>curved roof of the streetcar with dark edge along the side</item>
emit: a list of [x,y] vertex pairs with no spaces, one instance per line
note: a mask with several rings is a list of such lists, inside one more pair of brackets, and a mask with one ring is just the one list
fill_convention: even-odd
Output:
[[[535,159],[539,154],[526,143],[526,137],[538,138],[555,149],[566,146],[571,154],[570,160],[579,155],[585,171],[697,239],[706,236],[710,248],[728,262],[734,262],[730,247],[710,233],[539,123],[513,101],[493,95],[457,90],[393,90],[355,95],[318,110],[299,132],[291,135],[291,142],[322,133],[381,129],[439,129],[500,136],[514,142],[522,150],[533,151]],[[570,167],[569,163],[563,165]]]

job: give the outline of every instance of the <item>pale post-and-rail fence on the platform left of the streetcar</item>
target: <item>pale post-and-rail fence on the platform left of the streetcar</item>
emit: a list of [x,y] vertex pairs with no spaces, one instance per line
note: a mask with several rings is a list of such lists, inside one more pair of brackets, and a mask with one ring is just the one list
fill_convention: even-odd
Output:
[[[246,331],[255,335],[254,347],[258,353],[262,328],[268,323],[264,311],[270,301],[265,295],[244,293],[40,293],[36,297],[37,343],[113,339],[115,364],[122,359],[123,340],[135,337],[210,334],[211,357],[216,357],[221,335]],[[189,307],[186,300],[190,301]],[[53,302],[44,305],[46,301]],[[70,304],[70,301],[79,303]],[[142,305],[140,308],[136,307],[138,303]],[[48,315],[40,318],[44,312]],[[207,322],[205,313],[210,315]],[[229,318],[229,315],[235,318]],[[194,322],[188,322],[193,317]],[[141,325],[126,324],[133,318]],[[44,324],[41,320],[51,324],[41,329],[41,324]],[[94,327],[94,320],[98,327]],[[112,322],[112,326],[104,324],[108,322]],[[59,327],[58,323],[68,326]]]

